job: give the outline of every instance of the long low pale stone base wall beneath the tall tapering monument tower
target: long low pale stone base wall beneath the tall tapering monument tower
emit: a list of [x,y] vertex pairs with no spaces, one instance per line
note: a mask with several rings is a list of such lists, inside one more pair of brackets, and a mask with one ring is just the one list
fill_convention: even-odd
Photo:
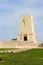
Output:
[[20,41],[0,41],[0,48],[37,48],[38,43]]

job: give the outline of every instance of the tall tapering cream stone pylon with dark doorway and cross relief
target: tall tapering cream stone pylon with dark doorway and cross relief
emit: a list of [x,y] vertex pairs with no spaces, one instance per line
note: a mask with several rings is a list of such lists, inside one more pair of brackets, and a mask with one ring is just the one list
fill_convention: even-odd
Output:
[[21,16],[17,39],[22,42],[36,42],[32,15]]

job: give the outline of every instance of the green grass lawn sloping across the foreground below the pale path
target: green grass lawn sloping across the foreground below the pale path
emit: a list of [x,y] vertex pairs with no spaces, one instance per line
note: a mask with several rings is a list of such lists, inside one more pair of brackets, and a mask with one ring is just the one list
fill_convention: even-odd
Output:
[[43,49],[31,49],[19,53],[0,53],[0,65],[43,65]]

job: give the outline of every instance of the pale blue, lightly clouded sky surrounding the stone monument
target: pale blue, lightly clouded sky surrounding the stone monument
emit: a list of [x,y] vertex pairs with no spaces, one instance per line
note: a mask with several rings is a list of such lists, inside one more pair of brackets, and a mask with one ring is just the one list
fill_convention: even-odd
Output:
[[17,37],[24,14],[33,16],[36,40],[43,42],[43,0],[0,0],[0,40]]

